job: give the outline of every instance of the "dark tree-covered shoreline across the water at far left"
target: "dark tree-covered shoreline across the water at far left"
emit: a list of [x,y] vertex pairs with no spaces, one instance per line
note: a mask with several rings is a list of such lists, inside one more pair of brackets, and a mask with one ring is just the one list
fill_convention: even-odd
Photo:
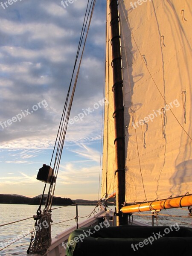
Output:
[[[44,197],[44,203],[47,196]],[[35,204],[39,205],[41,196],[28,198],[22,195],[3,195],[0,194],[0,204]],[[74,202],[70,198],[53,197],[52,205],[70,205]]]

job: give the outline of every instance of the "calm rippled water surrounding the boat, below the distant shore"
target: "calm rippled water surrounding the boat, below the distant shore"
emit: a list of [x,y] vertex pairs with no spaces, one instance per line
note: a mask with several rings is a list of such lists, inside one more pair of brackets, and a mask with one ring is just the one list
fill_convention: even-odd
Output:
[[[16,204],[0,204],[0,224],[5,224],[12,221],[17,221],[23,218],[32,217],[36,211],[37,205],[16,205]],[[56,208],[54,206],[53,208]],[[94,206],[79,206],[79,216],[86,216],[92,212]],[[114,207],[111,207],[114,209]],[[167,209],[161,211],[161,214],[171,214],[171,215],[188,215],[188,211],[182,209]],[[76,216],[76,207],[64,207],[60,209],[55,209],[52,212],[53,223],[72,219]],[[79,218],[79,222],[83,221],[86,218]],[[151,225],[151,216],[136,215],[134,220],[143,221],[146,224]],[[156,224],[156,220],[155,224]],[[178,218],[178,217],[169,217],[169,216],[159,216],[158,225],[171,225],[176,223],[179,226],[192,227],[192,218]],[[10,224],[8,226],[0,227],[0,250],[3,248],[4,243],[13,239],[17,239],[19,235],[26,235],[32,231],[35,221],[29,219],[26,221]],[[52,238],[55,237],[58,233],[61,233],[63,230],[76,225],[75,220],[67,221],[60,224],[55,224],[52,226]],[[17,241],[15,244],[12,244],[8,248],[0,251],[2,256],[10,255],[26,255],[26,250],[29,247],[30,235],[22,239],[22,241]]]

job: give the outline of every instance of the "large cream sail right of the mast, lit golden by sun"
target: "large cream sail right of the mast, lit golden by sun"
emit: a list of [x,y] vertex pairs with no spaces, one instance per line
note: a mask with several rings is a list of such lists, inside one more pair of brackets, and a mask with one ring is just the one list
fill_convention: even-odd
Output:
[[134,3],[119,0],[127,203],[192,193],[191,1]]

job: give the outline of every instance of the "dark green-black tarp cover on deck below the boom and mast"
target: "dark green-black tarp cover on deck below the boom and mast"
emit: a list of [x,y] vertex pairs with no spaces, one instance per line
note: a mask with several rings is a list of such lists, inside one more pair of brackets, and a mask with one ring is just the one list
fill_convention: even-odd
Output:
[[192,252],[192,228],[172,226],[84,227],[68,239],[67,256],[172,256]]

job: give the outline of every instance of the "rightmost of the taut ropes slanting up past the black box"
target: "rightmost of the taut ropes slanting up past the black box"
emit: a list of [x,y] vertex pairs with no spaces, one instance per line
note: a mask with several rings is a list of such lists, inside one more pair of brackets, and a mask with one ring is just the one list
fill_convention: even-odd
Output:
[[[72,107],[73,97],[74,97],[74,93],[75,93],[75,89],[76,89],[77,79],[78,79],[78,76],[79,76],[79,70],[80,70],[81,61],[82,61],[82,57],[83,57],[83,53],[84,53],[84,48],[85,48],[85,44],[86,44],[86,41],[87,41],[87,35],[88,35],[88,32],[89,32],[90,23],[91,23],[92,16],[93,16],[93,10],[94,10],[94,7],[95,7],[95,2],[96,2],[96,0],[93,1],[93,6],[92,6],[91,14],[90,14],[90,19],[89,19],[89,24],[88,24],[88,27],[87,27],[87,32],[86,32],[86,36],[85,36],[85,40],[84,40],[84,46],[83,46],[83,49],[82,49],[82,52],[81,52],[79,67],[78,67],[78,71],[77,71],[77,74],[76,74],[76,79],[75,79],[75,83],[74,83],[74,87],[73,87],[73,91],[72,91],[72,95],[71,95],[71,99],[70,99],[69,108],[68,108],[68,111],[67,111],[67,123],[68,123],[68,120],[69,120],[69,117],[70,117],[70,111],[71,111],[71,107]],[[61,161],[61,154],[62,154],[62,151],[63,151],[63,145],[64,145],[64,139],[65,139],[66,131],[67,131],[67,127],[64,131],[64,137],[62,139],[60,155],[59,155],[59,158],[58,158],[58,168],[59,168],[60,161]],[[57,169],[56,177],[57,177],[57,175],[58,175],[58,169]],[[55,191],[55,184],[54,184],[54,188],[53,188],[52,198],[53,198],[53,195],[54,195],[54,191]],[[52,201],[51,201],[51,205],[50,205],[50,210],[51,210],[51,207],[52,207]]]

